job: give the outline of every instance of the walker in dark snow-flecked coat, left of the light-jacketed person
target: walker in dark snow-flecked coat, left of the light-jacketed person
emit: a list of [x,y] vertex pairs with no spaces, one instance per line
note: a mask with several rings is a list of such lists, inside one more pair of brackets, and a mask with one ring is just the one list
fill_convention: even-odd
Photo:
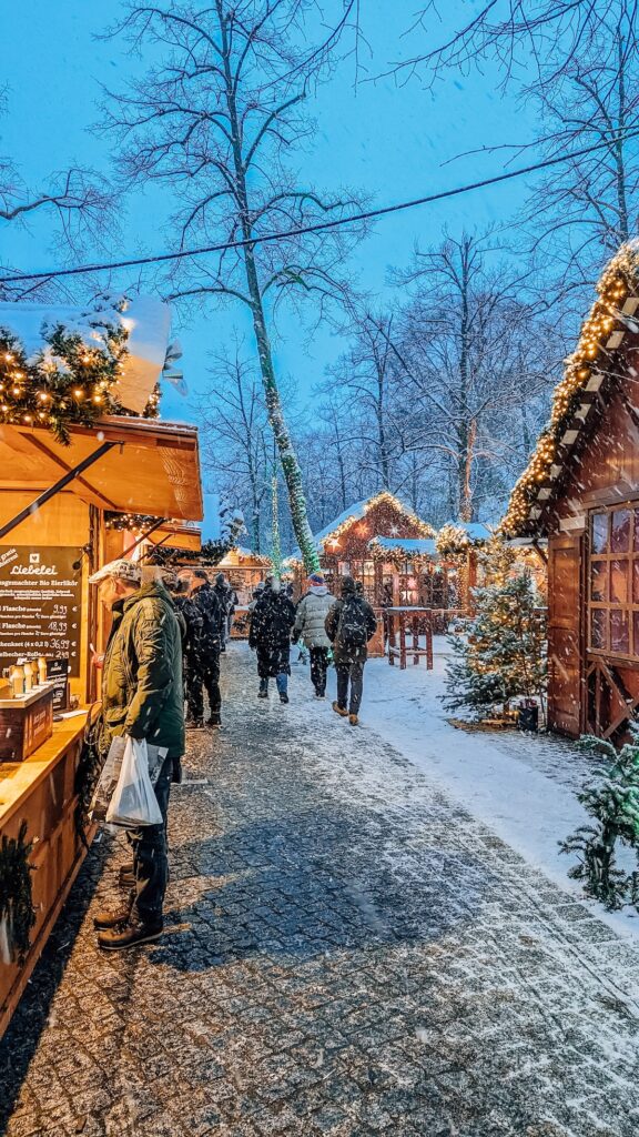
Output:
[[251,615],[249,646],[257,652],[258,698],[268,696],[268,680],[275,679],[280,702],[289,702],[291,673],[291,628],[296,622],[292,600],[282,591],[276,576],[267,576]]

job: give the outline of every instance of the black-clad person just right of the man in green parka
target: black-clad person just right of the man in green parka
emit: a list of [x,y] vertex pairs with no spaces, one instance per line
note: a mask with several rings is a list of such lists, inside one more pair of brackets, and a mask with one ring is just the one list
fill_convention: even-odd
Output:
[[216,590],[204,568],[190,572],[190,598],[201,621],[193,650],[188,655],[189,715],[186,727],[201,730],[205,725],[204,689],[208,696],[207,727],[222,725],[222,695],[219,694],[219,652],[226,623],[226,613],[219,606]]

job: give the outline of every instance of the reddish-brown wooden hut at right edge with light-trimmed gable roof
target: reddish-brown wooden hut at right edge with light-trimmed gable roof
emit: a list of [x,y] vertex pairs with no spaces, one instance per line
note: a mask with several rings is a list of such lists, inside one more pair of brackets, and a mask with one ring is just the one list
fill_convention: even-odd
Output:
[[639,707],[639,243],[605,268],[503,530],[548,543],[548,721],[619,742]]

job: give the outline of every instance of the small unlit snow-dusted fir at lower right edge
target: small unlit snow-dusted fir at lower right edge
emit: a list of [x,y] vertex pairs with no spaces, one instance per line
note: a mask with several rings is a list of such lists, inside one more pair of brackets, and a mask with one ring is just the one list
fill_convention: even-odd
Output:
[[[631,739],[617,754],[611,742],[586,738],[586,749],[609,758],[598,767],[578,799],[595,825],[580,825],[565,841],[562,853],[576,853],[579,863],[569,871],[582,880],[584,891],[608,910],[631,904],[639,910],[639,725],[630,728]],[[626,873],[617,866],[620,846],[634,849],[638,868]]]

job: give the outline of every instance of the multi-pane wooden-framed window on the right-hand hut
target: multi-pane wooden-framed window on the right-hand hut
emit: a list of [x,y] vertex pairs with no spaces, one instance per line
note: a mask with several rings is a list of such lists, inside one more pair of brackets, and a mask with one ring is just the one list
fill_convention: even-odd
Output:
[[588,646],[639,658],[639,507],[616,505],[590,515]]

